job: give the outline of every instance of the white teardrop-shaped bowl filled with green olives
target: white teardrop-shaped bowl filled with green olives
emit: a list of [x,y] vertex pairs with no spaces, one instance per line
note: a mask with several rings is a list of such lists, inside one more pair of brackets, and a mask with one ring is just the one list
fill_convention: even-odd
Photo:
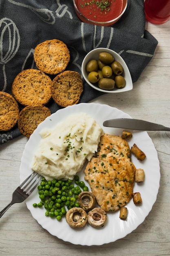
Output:
[[108,48],[96,48],[82,62],[84,80],[95,90],[107,93],[133,89],[132,78],[123,58]]

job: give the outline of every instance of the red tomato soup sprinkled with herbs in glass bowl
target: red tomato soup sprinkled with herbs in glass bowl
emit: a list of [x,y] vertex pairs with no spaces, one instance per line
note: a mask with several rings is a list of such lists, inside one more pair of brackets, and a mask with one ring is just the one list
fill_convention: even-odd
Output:
[[123,0],[77,0],[77,9],[84,17],[96,22],[117,18],[123,11]]

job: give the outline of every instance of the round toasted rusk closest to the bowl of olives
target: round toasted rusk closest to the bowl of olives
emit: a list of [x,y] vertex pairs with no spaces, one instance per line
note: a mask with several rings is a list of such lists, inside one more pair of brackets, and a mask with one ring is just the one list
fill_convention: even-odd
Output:
[[59,106],[67,107],[77,104],[82,92],[83,82],[78,72],[64,71],[53,79],[51,94]]

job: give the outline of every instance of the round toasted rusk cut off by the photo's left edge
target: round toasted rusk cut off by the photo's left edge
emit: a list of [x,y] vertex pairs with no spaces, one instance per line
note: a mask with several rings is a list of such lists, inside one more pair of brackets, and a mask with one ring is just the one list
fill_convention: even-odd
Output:
[[7,131],[17,123],[19,108],[17,101],[7,92],[0,92],[0,131]]

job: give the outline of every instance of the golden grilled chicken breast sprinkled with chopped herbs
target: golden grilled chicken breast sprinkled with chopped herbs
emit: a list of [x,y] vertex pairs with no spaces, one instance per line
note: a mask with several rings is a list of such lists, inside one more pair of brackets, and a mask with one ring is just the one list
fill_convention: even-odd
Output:
[[128,143],[121,137],[105,133],[97,157],[92,157],[84,173],[104,211],[117,211],[132,198],[135,166],[130,160]]

